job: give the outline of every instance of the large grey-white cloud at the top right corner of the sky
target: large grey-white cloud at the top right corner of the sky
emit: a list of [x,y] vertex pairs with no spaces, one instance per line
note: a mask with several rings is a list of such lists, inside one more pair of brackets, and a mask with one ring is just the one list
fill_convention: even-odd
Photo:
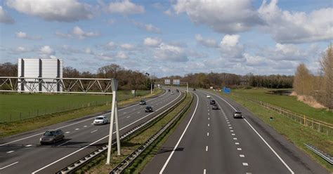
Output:
[[258,10],[266,21],[263,29],[272,34],[275,41],[295,44],[333,39],[333,8],[321,8],[306,14],[282,11],[277,4],[278,0],[269,4],[265,0]]

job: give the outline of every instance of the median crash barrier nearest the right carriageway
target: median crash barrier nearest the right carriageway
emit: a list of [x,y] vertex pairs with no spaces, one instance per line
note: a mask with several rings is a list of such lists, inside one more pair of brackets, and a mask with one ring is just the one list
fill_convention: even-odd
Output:
[[138,158],[138,156],[140,156],[140,154],[142,154],[142,152],[145,151],[145,149],[147,149],[150,145],[152,145],[152,143],[155,142],[155,140],[157,140],[157,138],[159,138],[159,136],[162,135],[162,133],[164,133],[166,130],[169,130],[169,128],[172,128],[171,125],[173,125],[180,118],[180,116],[182,116],[183,114],[185,114],[185,112],[190,107],[190,105],[192,103],[192,100],[193,100],[193,96],[192,96],[190,102],[188,102],[188,104],[185,105],[185,107],[183,109],[181,109],[181,111],[178,112],[176,114],[176,116],[174,116],[173,119],[171,119],[168,123],[166,123],[159,131],[157,131],[157,133],[155,133],[150,138],[148,138],[148,140],[145,141],[143,143],[143,145],[141,145],[140,147],[138,147],[138,149],[136,149],[134,152],[132,152],[129,156],[126,157],[126,159],[124,159],[115,168],[113,168],[110,171],[110,174],[124,173],[124,170],[126,170],[126,168],[129,168],[129,166],[131,166],[131,164],[133,163],[133,161],[135,161],[136,158]]

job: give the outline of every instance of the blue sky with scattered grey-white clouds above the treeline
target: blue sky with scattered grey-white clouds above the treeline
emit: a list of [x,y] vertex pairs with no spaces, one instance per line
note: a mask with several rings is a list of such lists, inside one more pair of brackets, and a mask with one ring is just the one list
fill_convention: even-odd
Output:
[[156,76],[316,72],[333,39],[332,0],[1,0],[0,62],[61,58]]

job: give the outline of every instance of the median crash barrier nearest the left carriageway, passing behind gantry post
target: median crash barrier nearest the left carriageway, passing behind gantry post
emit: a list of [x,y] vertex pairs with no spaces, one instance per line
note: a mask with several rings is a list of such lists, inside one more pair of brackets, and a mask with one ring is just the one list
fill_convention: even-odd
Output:
[[[165,109],[162,113],[157,114],[157,116],[152,117],[148,121],[145,121],[144,123],[141,123],[139,126],[136,126],[135,128],[132,128],[130,131],[127,131],[126,133],[121,135],[119,139],[124,140],[125,138],[128,138],[130,135],[133,135],[134,133],[136,133],[136,132],[140,131],[141,129],[145,128],[146,126],[150,126],[150,123],[153,123],[153,121],[155,121],[155,119],[157,119],[159,117],[162,117],[162,116],[165,116],[166,114],[169,114],[169,112],[171,112],[174,108],[176,108],[178,105],[180,105],[181,102],[183,102],[183,100],[185,100],[185,98],[186,98],[186,93],[185,93],[185,95],[183,95],[183,98],[181,98],[181,100],[176,102],[174,105],[172,105],[168,109]],[[117,143],[116,140],[112,140],[112,147],[115,146],[116,143]],[[95,159],[97,156],[100,156],[100,155],[103,154],[103,152],[107,151],[107,145],[106,144],[103,145],[102,147],[96,149],[91,154],[88,154],[88,155],[84,156],[83,158],[75,161],[74,163],[71,163],[70,165],[66,166],[65,168],[62,168],[57,173],[61,173],[61,174],[74,173],[76,170],[79,170],[79,168],[84,166],[84,164],[89,163],[91,160]]]

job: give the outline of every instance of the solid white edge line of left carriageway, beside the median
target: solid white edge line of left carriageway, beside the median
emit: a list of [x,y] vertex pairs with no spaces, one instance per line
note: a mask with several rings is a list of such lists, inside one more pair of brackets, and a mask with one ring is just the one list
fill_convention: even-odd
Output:
[[[161,95],[161,96],[162,96],[162,95]],[[177,100],[179,97],[181,97],[181,93],[179,93],[178,97],[175,98],[174,100],[172,100],[171,102],[174,102],[174,101]],[[169,105],[171,102],[169,102],[168,104],[164,105],[164,107],[166,107],[167,105]],[[157,109],[156,111],[158,111],[158,110],[160,110],[160,109],[163,109],[164,107],[161,107],[161,108]],[[154,113],[154,112],[152,112],[152,113],[150,113],[150,114],[148,114],[148,115],[146,115],[146,116],[141,117],[141,119],[138,119],[138,120],[136,120],[136,121],[133,121],[133,122],[130,123],[129,125],[124,126],[123,128],[120,128],[119,131],[122,131],[124,128],[127,128],[127,127],[131,126],[133,123],[136,123],[136,122],[138,122],[138,121],[141,121],[142,119],[145,119],[145,117],[150,116],[150,115],[153,114],[153,113]],[[113,132],[112,134],[114,134],[114,133],[116,133],[116,132]],[[81,149],[77,149],[77,151],[72,152],[71,154],[68,154],[67,156],[63,156],[63,158],[58,159],[57,161],[53,161],[52,163],[49,163],[48,165],[46,165],[46,166],[44,166],[44,167],[42,167],[42,168],[39,168],[38,170],[32,172],[32,174],[37,173],[37,172],[39,172],[40,170],[44,170],[44,168],[48,168],[49,166],[52,166],[54,163],[58,163],[58,161],[61,161],[61,160],[65,159],[65,158],[67,158],[68,156],[71,156],[72,154],[76,154],[77,152],[80,152],[81,150],[86,149],[86,147],[89,147],[89,146],[91,146],[91,145],[93,145],[93,144],[96,144],[96,143],[99,142],[100,140],[103,140],[103,139],[105,139],[105,138],[107,138],[107,137],[109,137],[109,135],[106,135],[105,137],[100,138],[99,140],[96,140],[95,142],[91,142],[89,145],[86,145],[85,147],[82,147]]]

